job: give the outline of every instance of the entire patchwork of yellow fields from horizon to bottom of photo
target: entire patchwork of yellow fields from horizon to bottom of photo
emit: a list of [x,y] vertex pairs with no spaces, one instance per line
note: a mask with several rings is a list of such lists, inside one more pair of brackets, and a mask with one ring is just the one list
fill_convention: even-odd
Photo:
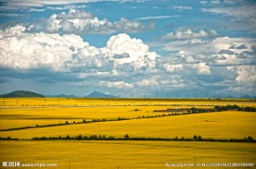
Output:
[[[105,135],[123,138],[256,138],[256,114],[224,111],[170,115],[167,108],[213,108],[237,104],[255,107],[250,100],[201,99],[1,99],[1,161],[58,163],[59,168],[163,168],[165,163],[256,163],[255,143],[52,140],[34,137]],[[148,118],[147,118],[148,117]],[[154,118],[152,118],[154,117]],[[126,118],[126,120],[117,119]],[[77,123],[83,120],[96,123]],[[105,119],[105,121],[103,121]],[[113,120],[113,121],[110,121]],[[70,125],[35,127],[50,124]],[[69,155],[71,154],[71,155]],[[230,167],[227,167],[230,168]]]

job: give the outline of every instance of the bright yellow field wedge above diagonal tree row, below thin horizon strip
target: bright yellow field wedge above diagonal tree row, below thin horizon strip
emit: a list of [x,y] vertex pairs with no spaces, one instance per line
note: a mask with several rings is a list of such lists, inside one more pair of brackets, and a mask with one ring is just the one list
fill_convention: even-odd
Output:
[[[81,122],[83,119],[117,119],[138,116],[163,115],[154,113],[155,109],[167,106],[90,106],[90,107],[16,107],[0,109],[0,129],[27,127],[35,125]],[[137,111],[134,111],[138,109]]]

